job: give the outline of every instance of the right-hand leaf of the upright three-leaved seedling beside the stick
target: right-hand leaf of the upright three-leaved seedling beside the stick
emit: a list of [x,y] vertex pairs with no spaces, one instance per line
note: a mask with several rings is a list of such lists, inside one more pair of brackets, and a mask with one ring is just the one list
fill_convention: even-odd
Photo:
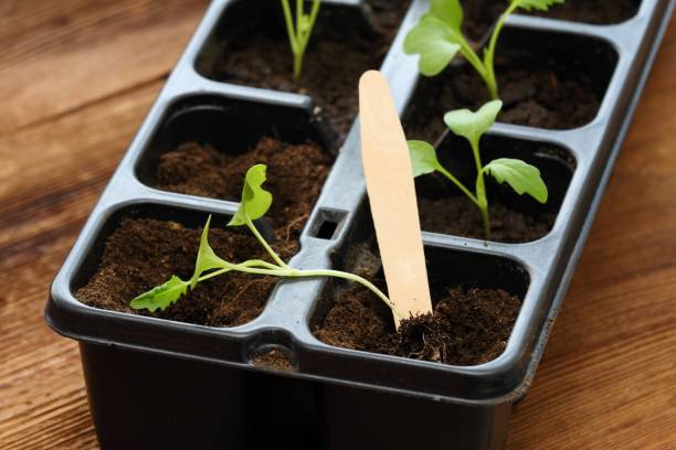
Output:
[[500,158],[484,168],[498,183],[507,182],[517,194],[529,194],[540,203],[547,203],[547,185],[538,168],[521,160]]

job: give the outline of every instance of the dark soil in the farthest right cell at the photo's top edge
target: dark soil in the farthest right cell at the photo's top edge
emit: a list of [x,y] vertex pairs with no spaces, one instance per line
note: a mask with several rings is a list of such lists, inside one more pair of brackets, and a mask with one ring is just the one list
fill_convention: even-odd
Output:
[[[569,20],[593,24],[612,24],[631,19],[638,11],[637,0],[566,0],[547,12],[532,12],[550,19]],[[464,0],[465,33],[474,41],[490,31],[507,8],[504,0]],[[526,13],[522,10],[519,14]]]

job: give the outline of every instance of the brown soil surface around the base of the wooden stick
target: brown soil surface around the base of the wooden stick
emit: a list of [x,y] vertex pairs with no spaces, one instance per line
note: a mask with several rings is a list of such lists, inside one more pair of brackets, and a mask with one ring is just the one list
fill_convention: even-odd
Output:
[[[369,251],[366,246],[363,250]],[[373,280],[379,257],[359,259],[362,262],[352,270]],[[384,281],[379,278],[376,283],[382,288]],[[452,287],[432,292],[433,314],[404,320],[395,332],[391,311],[372,292],[352,285],[336,289],[332,304],[314,330],[320,341],[453,365],[477,365],[499,356],[521,307],[518,297],[500,289]]]

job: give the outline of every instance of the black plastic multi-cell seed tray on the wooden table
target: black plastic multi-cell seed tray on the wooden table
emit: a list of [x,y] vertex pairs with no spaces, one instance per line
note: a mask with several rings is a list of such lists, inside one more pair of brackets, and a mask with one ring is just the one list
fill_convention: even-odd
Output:
[[[471,281],[522,298],[506,351],[489,363],[463,367],[318,341],[310,330],[330,298],[325,280],[283,281],[257,319],[228,329],[94,309],[74,298],[120,217],[199,227],[207,213],[224,223],[236,211],[235,203],[149,188],[149,168],[158,157],[190,140],[241,146],[274,132],[339,150],[292,264],[340,267],[346,248],[373,239],[357,122],[341,142],[307,96],[203,75],[210,58],[228,55],[220,43],[233,26],[231,12],[264,17],[263,4],[221,0],[210,6],[53,282],[45,317],[54,330],[81,343],[102,447],[503,448],[511,406],[531,384],[674,1],[643,0],[634,18],[614,25],[526,15],[508,20],[500,45],[560,55],[558,64],[588,77],[602,103],[595,118],[575,129],[497,124],[485,138],[490,157],[528,159],[551,180],[547,207],[557,219],[545,237],[500,244],[423,234],[433,285]],[[361,1],[325,1],[323,8],[345,32],[368,26]],[[402,116],[425,100],[416,60],[403,53],[402,42],[426,10],[426,1],[412,2],[381,67]],[[556,151],[534,151],[540,143]],[[441,143],[455,144],[452,137]],[[285,352],[293,369],[252,363],[271,347]],[[139,382],[148,378],[151,385]]]

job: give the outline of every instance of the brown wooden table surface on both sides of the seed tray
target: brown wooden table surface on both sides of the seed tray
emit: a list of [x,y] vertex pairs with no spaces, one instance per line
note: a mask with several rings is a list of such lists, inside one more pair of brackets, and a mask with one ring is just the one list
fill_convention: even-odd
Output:
[[[0,2],[0,449],[95,449],[49,283],[205,0]],[[509,449],[676,449],[676,26]]]

